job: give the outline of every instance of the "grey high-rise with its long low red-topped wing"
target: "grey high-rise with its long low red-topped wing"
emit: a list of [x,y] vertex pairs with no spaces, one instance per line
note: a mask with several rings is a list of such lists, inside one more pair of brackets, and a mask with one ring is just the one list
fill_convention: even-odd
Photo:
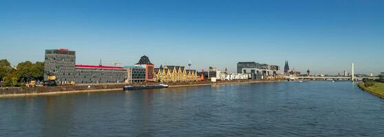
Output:
[[126,69],[117,66],[76,65],[76,52],[45,50],[44,80],[55,76],[58,84],[118,83],[127,78]]

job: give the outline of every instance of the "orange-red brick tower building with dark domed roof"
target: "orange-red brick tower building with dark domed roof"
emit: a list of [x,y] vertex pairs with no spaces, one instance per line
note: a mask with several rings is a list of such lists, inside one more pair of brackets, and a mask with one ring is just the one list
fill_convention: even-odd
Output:
[[146,55],[143,55],[138,63],[136,63],[136,66],[142,66],[145,68],[145,81],[146,82],[153,82],[153,77],[155,75],[155,65],[153,65],[149,58]]

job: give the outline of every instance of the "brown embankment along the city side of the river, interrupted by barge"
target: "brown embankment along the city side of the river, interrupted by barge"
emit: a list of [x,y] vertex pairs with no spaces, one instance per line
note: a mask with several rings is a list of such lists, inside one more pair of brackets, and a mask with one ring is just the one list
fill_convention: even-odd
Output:
[[[184,86],[211,86],[222,84],[248,84],[261,82],[283,82],[284,80],[232,80],[232,81],[217,81],[217,82],[170,82],[167,83],[169,88],[184,87]],[[126,84],[99,84],[99,85],[78,85],[78,86],[47,86],[33,88],[0,88],[0,98],[8,97],[28,97],[38,95],[58,95],[78,92],[105,92],[119,91]]]

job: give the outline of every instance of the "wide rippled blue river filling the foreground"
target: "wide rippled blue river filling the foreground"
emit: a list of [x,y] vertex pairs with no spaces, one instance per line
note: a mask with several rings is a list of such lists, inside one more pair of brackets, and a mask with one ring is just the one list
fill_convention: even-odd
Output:
[[277,82],[0,99],[0,136],[384,136],[352,82]]

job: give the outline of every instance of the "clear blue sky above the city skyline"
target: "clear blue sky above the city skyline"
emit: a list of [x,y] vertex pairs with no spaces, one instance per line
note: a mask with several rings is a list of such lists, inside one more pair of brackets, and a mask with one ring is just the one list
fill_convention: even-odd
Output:
[[0,59],[236,71],[239,61],[314,74],[384,71],[384,1],[0,1]]

